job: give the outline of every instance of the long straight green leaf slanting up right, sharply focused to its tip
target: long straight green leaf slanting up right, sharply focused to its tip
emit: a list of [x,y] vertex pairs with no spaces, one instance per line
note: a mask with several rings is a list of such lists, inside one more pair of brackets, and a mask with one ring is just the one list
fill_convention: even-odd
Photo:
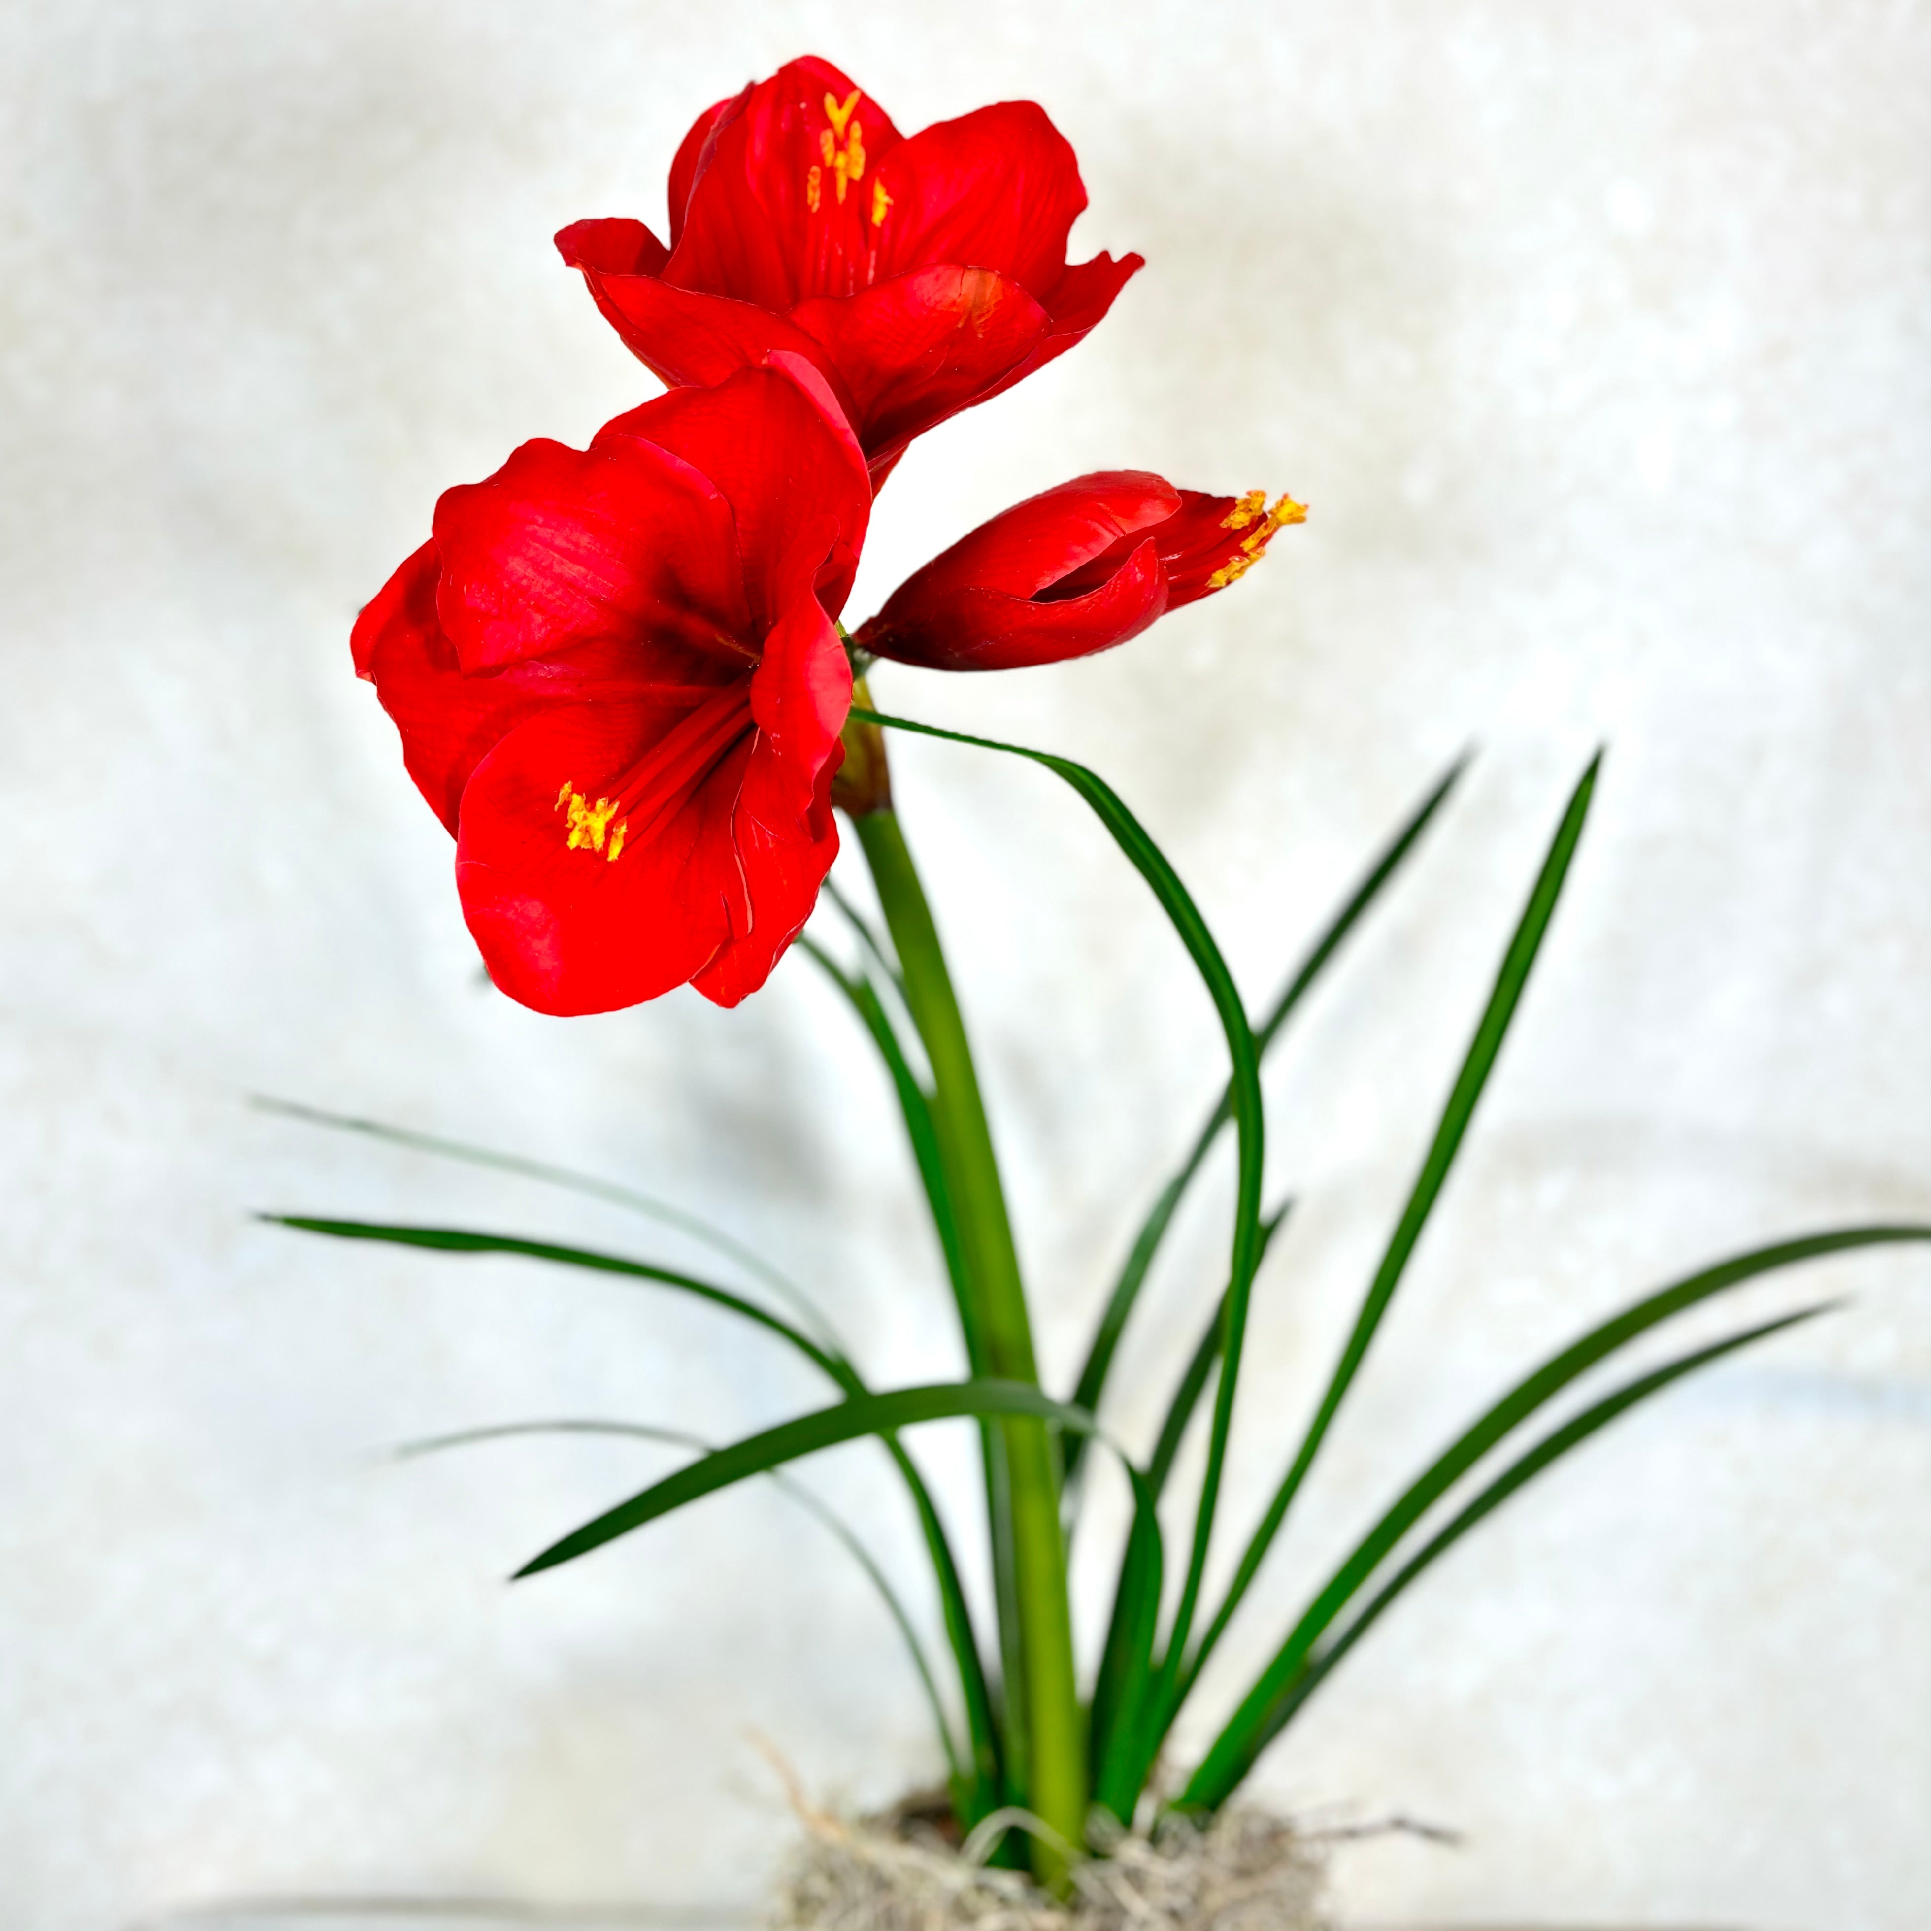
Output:
[[1421,1162],[1421,1172],[1415,1176],[1408,1203],[1402,1209],[1402,1217],[1396,1222],[1394,1234],[1390,1236],[1386,1251],[1381,1257],[1381,1267],[1377,1267],[1367,1298],[1361,1301],[1361,1311],[1356,1317],[1354,1332],[1348,1336],[1348,1346],[1342,1350],[1342,1357],[1334,1365],[1334,1373],[1329,1379],[1327,1392],[1321,1396],[1321,1406],[1307,1427],[1300,1452],[1294,1456],[1286,1477],[1267,1506],[1267,1514],[1261,1518],[1261,1525],[1253,1531],[1253,1537],[1240,1558],[1240,1566],[1234,1572],[1234,1580],[1228,1585],[1220,1609],[1215,1612],[1215,1618],[1207,1626],[1207,1632],[1193,1655],[1180,1668],[1176,1693],[1168,1699],[1168,1705],[1162,1711],[1162,1734],[1166,1724],[1172,1722],[1180,1703],[1186,1699],[1188,1690],[1199,1678],[1207,1657],[1213,1655],[1213,1649],[1220,1641],[1234,1610],[1240,1607],[1240,1599],[1247,1593],[1247,1585],[1259,1572],[1261,1558],[1267,1554],[1282,1520],[1288,1514],[1288,1506],[1294,1502],[1307,1469],[1313,1466],[1315,1454],[1321,1450],[1321,1442],[1327,1439],[1334,1412],[1340,1408],[1350,1383],[1367,1356],[1369,1342],[1373,1342],[1375,1330],[1381,1327],[1381,1319],[1388,1311],[1388,1301],[1394,1298],[1394,1290],[1402,1282],[1408,1259],[1415,1251],[1415,1242],[1419,1242],[1429,1213],[1441,1197],[1442,1184],[1448,1178],[1448,1168],[1454,1164],[1454,1157],[1462,1147],[1462,1137],[1468,1133],[1469,1120],[1475,1114],[1475,1103],[1481,1099],[1489,1074],[1495,1070],[1495,1060],[1502,1050],[1508,1025],[1516,1016],[1516,1006],[1520,1004],[1524,987],[1529,981],[1529,969],[1535,966],[1535,954],[1541,950],[1543,937],[1549,931],[1549,921],[1554,917],[1556,900],[1562,896],[1562,882],[1568,877],[1570,861],[1574,859],[1576,846],[1581,840],[1583,823],[1589,817],[1589,799],[1595,794],[1595,778],[1601,765],[1603,753],[1599,751],[1593,759],[1589,759],[1581,780],[1570,794],[1568,807],[1556,826],[1549,855],[1543,859],[1543,869],[1535,881],[1535,888],[1529,892],[1529,902],[1522,911],[1522,919],[1508,942],[1508,950],[1502,954],[1502,966],[1497,971],[1495,989],[1489,993],[1489,1004],[1483,1010],[1481,1023],[1475,1027],[1475,1037],[1469,1041],[1468,1054],[1462,1060],[1462,1070],[1456,1074],[1454,1087],[1448,1093],[1448,1105],[1442,1108],[1442,1116],[1435,1128],[1435,1139],[1429,1145],[1427,1159]]

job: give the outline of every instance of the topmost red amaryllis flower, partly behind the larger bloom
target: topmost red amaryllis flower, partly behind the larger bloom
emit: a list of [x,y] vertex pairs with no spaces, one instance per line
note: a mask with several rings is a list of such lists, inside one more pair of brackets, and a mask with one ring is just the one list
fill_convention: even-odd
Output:
[[832,380],[882,483],[906,444],[1070,350],[1139,255],[1066,265],[1074,151],[1031,100],[906,139],[825,60],[701,114],[670,166],[670,247],[643,222],[556,238],[666,382],[784,348]]

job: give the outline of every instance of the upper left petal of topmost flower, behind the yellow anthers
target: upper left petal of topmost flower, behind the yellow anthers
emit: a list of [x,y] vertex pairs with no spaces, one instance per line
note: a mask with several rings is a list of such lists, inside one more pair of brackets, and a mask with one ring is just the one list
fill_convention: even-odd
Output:
[[778,311],[863,288],[869,174],[898,139],[884,108],[828,62],[780,68],[714,129],[668,280]]

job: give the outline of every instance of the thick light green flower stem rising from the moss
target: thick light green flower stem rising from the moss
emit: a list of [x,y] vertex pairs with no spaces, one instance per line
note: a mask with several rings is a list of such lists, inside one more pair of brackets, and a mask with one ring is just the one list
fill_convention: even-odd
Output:
[[[855,828],[906,975],[906,1004],[933,1068],[933,1126],[958,1211],[966,1276],[985,1352],[979,1371],[1037,1386],[1033,1329],[1006,1193],[938,929],[898,815],[871,811],[855,821]],[[1004,1419],[998,1435],[993,1460],[1004,1464],[1004,1495],[994,1489],[987,1504],[994,1553],[1002,1545],[1010,1551],[1010,1589],[1000,1591],[1000,1636],[1008,1659],[1008,1777],[1018,1802],[1068,1844],[1079,1844],[1087,1805],[1085,1736],[1074,1678],[1058,1446],[1043,1421]],[[1035,1873],[1064,1887],[1064,1860],[1037,1838],[1033,1846]]]

